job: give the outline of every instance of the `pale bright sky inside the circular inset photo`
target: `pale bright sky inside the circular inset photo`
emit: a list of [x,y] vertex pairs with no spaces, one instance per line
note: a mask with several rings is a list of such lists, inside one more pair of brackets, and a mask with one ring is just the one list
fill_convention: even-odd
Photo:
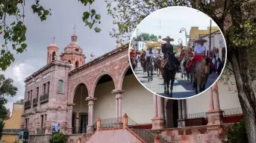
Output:
[[[216,23],[212,20],[212,27],[216,27]],[[194,10],[189,7],[167,7],[150,14],[137,26],[143,33],[154,34],[156,36],[170,36],[175,39],[173,44],[178,44],[178,39],[182,39],[182,45],[185,45],[185,32],[181,28],[185,28],[187,34],[190,34],[191,27],[199,27],[199,30],[206,30],[210,27],[210,17],[201,11]],[[133,36],[137,32],[134,31]],[[188,41],[188,39],[187,39]]]

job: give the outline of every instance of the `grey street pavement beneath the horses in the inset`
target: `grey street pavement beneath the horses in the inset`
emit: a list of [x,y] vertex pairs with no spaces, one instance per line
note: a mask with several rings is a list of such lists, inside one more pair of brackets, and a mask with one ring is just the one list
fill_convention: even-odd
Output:
[[[140,82],[152,92],[168,97],[168,95],[164,94],[163,78],[161,76],[157,77],[157,71],[153,72],[153,81],[148,82],[148,74],[146,72],[143,74],[143,68],[140,66],[140,63],[138,63],[135,74]],[[211,86],[217,78],[218,74],[210,74],[205,89]],[[193,95],[195,95],[195,92],[192,84],[187,83],[187,77],[186,79],[182,79],[181,73],[177,73],[173,84],[172,98],[188,98]]]

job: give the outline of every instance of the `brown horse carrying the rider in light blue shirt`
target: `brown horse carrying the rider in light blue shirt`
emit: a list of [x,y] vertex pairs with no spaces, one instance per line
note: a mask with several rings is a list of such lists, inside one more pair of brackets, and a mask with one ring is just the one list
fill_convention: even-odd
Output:
[[[205,57],[202,62],[197,62],[195,66],[193,66],[193,89],[195,89],[196,95],[205,90],[209,74],[210,58]],[[197,86],[199,86],[199,92]]]

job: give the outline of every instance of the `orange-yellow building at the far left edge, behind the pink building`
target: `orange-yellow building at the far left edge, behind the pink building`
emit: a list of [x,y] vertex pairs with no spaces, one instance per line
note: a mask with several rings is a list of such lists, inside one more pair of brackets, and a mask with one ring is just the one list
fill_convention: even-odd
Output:
[[4,120],[3,136],[1,137],[1,143],[13,143],[18,142],[19,131],[22,126],[22,114],[24,112],[24,105],[20,103],[13,104],[13,112],[10,116],[10,112],[7,115],[7,119]]

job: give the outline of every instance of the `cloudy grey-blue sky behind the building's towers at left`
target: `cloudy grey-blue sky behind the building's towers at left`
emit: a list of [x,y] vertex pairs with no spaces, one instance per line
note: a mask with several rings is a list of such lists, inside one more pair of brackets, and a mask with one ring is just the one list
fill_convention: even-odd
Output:
[[[40,18],[33,13],[32,2],[34,1],[25,2],[25,25],[28,28],[26,34],[27,51],[22,54],[15,54],[15,62],[7,71],[0,71],[0,74],[4,74],[5,77],[12,78],[14,86],[19,89],[14,98],[8,98],[9,102],[6,107],[10,108],[10,111],[12,111],[13,102],[24,98],[25,78],[46,66],[47,46],[51,44],[54,36],[60,54],[71,42],[75,26],[78,44],[83,48],[87,61],[90,60],[92,51],[96,57],[99,57],[116,48],[116,39],[109,36],[109,31],[113,28],[113,19],[107,15],[104,1],[95,1],[91,5],[91,8],[102,16],[102,24],[99,25],[99,28],[102,28],[100,33],[84,26],[82,16],[84,11],[88,10],[88,6],[85,7],[79,1],[40,1],[43,7],[51,8],[51,16],[45,22],[41,22]],[[7,20],[10,21],[10,19]],[[0,44],[3,43],[3,36],[4,34],[0,35]]]

